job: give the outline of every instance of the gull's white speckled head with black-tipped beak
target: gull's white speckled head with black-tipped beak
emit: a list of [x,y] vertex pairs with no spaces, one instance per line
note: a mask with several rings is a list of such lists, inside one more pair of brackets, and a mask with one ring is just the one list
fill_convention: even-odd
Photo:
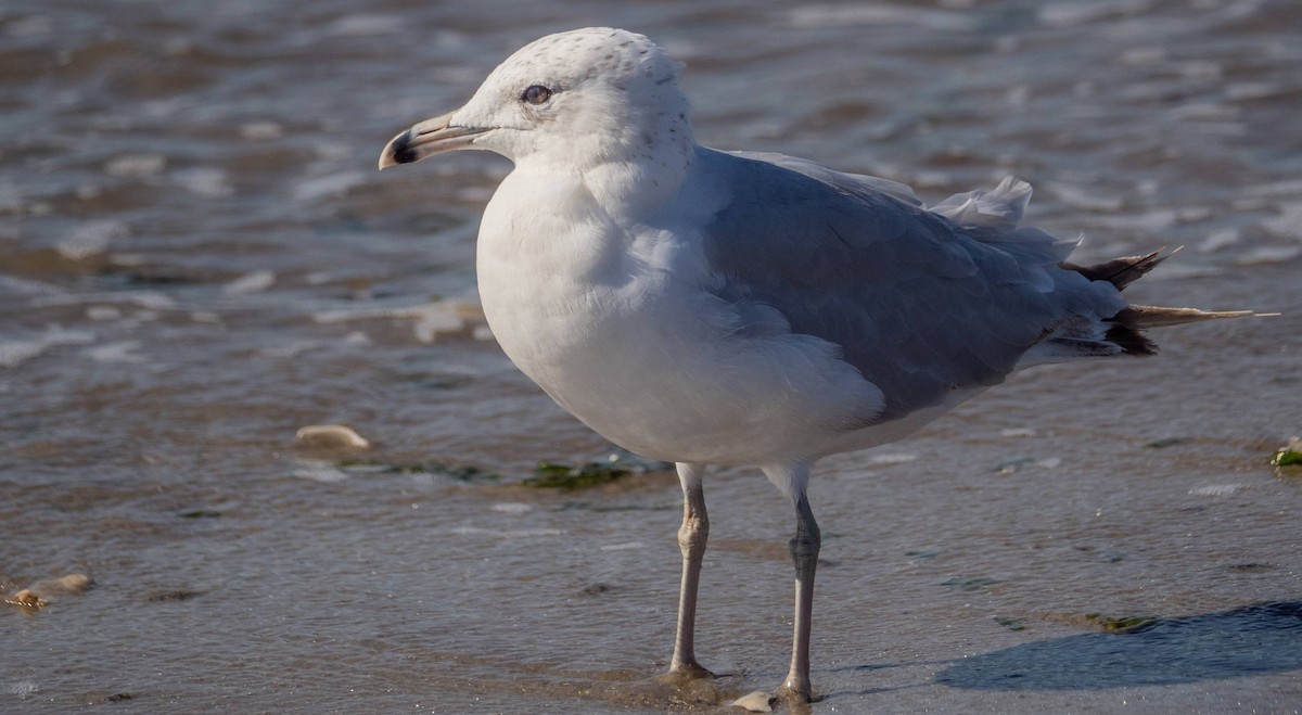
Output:
[[398,134],[380,167],[454,148],[578,169],[686,155],[694,146],[678,65],[643,35],[587,27],[547,35],[506,59],[465,107]]

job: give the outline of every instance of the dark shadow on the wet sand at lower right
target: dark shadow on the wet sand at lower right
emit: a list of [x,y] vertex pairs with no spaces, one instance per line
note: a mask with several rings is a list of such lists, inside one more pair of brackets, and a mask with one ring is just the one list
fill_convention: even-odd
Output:
[[1302,668],[1302,600],[1157,619],[953,662],[935,682],[970,690],[1103,690]]

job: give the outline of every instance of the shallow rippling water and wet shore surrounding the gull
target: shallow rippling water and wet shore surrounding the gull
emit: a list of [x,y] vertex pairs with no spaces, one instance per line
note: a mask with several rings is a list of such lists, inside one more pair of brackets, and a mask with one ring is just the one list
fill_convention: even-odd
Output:
[[[0,587],[94,583],[0,611],[0,710],[686,707],[651,681],[674,478],[513,486],[611,447],[477,314],[508,165],[374,171],[510,51],[599,23],[686,63],[703,143],[931,201],[1017,173],[1082,260],[1186,246],[1139,302],[1284,313],[1026,372],[823,462],[815,711],[1298,708],[1302,477],[1266,464],[1302,432],[1295,4],[16,0]],[[296,445],[336,422],[374,447]],[[500,478],[383,469],[430,462]],[[708,701],[785,672],[793,518],[745,470],[707,496]]]

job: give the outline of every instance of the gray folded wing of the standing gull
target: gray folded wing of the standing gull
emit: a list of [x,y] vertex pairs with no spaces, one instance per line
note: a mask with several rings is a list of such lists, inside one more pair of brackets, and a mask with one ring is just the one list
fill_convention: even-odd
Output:
[[803,160],[699,159],[732,193],[703,234],[711,290],[741,315],[767,306],[792,332],[838,345],[885,395],[875,421],[997,384],[1064,323],[1125,306],[1111,285],[1057,266],[1070,244],[1017,228],[1022,182],[928,211],[911,191]]

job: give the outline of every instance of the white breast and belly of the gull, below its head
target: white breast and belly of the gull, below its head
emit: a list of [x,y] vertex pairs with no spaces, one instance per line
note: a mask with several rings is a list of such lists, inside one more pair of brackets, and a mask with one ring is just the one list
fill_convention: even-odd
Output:
[[581,182],[514,172],[480,227],[480,298],[521,371],[648,457],[812,457],[880,402],[825,343],[737,335],[733,306],[702,289],[698,253],[690,233],[617,225]]

